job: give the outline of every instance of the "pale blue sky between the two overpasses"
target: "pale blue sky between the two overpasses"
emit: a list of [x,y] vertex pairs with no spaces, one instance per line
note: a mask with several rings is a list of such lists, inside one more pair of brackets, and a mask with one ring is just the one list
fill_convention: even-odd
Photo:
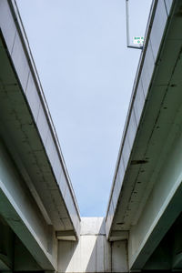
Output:
[[[125,0],[16,0],[82,217],[104,217],[141,50]],[[129,1],[131,42],[151,0]]]

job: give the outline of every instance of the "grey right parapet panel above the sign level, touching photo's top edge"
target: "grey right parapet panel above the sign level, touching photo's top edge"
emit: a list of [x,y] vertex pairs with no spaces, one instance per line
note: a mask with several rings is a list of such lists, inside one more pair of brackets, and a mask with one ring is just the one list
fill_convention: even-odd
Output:
[[157,11],[152,25],[150,34],[150,41],[152,45],[152,51],[155,61],[157,60],[157,53],[161,43],[161,37],[163,36],[164,29],[167,23],[167,9],[164,1],[158,1]]

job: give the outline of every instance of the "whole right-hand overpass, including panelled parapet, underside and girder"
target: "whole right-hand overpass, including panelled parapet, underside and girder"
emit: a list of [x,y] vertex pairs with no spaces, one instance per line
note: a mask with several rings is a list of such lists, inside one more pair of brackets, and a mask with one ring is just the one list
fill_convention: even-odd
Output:
[[162,242],[182,212],[182,1],[152,6],[106,215],[107,238],[128,231],[134,271],[157,270],[167,243],[175,258],[163,269],[182,264],[182,249],[177,256],[169,236]]

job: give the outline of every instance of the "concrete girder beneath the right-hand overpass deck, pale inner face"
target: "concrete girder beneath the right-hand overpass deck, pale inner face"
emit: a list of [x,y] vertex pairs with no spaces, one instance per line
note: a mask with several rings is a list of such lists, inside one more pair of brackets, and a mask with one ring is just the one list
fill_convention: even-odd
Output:
[[[177,113],[176,123],[180,122],[181,111],[182,109]],[[163,162],[163,166],[158,166],[156,170],[157,183],[136,226],[130,230],[128,243],[130,269],[144,267],[147,259],[182,211],[182,134],[178,132],[176,135],[176,130],[177,126],[174,125],[167,137],[165,154],[161,155],[160,162]]]

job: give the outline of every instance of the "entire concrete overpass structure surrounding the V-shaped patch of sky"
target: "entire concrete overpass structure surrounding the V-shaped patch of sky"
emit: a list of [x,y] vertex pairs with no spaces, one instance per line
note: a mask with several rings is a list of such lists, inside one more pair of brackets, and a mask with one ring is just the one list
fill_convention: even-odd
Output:
[[182,1],[154,0],[105,218],[81,218],[15,0],[0,0],[0,271],[182,271]]

